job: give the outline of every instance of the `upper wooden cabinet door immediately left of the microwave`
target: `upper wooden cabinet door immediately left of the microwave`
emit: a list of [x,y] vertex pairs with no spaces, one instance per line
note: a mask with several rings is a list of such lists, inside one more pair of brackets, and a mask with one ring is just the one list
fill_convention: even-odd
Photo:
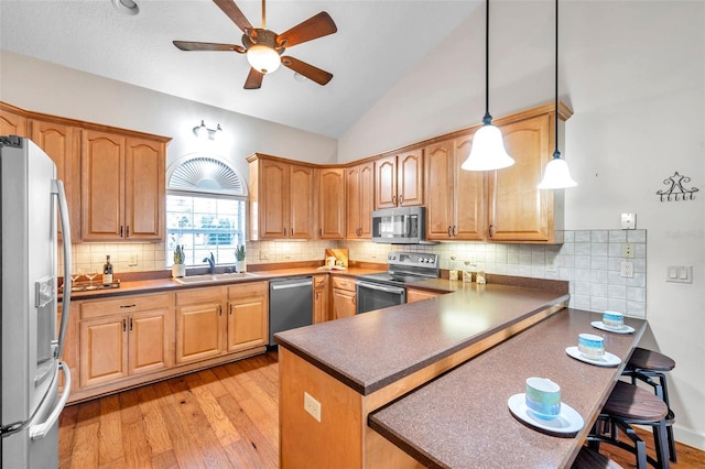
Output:
[[375,164],[361,163],[345,170],[346,238],[372,237],[375,209]]

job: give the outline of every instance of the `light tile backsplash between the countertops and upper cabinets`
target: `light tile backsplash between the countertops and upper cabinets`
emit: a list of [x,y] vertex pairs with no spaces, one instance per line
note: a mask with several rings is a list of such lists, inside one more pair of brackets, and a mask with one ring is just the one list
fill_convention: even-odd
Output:
[[[323,260],[326,248],[347,248],[350,260],[386,263],[389,251],[437,253],[441,269],[484,270],[488,273],[566,280],[571,306],[615,309],[646,317],[647,231],[564,231],[563,244],[498,244],[487,242],[441,242],[427,246],[390,246],[368,241],[248,241],[249,264]],[[620,276],[622,243],[634,244],[633,277]],[[120,272],[166,269],[164,243],[74,244],[74,269],[102,271],[110,254],[116,276]]]

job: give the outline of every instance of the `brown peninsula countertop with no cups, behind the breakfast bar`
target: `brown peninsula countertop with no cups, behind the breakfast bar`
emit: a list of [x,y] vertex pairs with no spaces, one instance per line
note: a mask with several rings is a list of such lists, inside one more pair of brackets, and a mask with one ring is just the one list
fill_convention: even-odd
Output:
[[430,282],[455,291],[279,332],[274,340],[368,395],[538,312],[567,304],[568,299],[567,293],[499,284]]

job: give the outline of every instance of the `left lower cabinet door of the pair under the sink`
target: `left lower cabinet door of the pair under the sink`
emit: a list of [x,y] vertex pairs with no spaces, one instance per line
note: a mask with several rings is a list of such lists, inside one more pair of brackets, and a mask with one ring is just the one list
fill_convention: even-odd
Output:
[[203,360],[220,355],[220,303],[176,308],[176,362]]

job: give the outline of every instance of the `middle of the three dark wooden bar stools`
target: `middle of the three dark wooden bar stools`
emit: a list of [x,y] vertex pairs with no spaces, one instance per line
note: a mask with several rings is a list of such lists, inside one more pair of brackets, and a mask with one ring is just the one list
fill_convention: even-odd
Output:
[[[665,417],[669,407],[659,396],[634,384],[617,381],[593,430],[587,437],[590,449],[599,451],[600,443],[622,448],[636,456],[637,468],[646,469],[647,462],[657,468],[669,469],[669,445],[666,440]],[[634,433],[631,425],[650,426],[657,448],[657,459],[647,455],[647,445]],[[619,430],[631,439],[619,439]]]

